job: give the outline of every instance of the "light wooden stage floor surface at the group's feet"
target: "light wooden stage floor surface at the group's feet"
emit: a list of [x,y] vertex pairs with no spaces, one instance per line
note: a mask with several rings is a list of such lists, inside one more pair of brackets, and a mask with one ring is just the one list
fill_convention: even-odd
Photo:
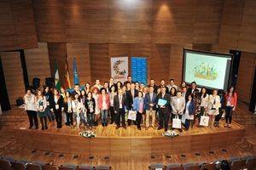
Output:
[[[16,109],[15,111],[21,112],[22,114],[26,114],[25,111],[22,109]],[[24,113],[23,113],[24,112]],[[40,124],[40,123],[39,123]],[[22,129],[22,130],[28,130],[28,131],[37,131],[38,133],[52,133],[52,134],[67,134],[67,135],[79,135],[79,132],[83,131],[85,128],[83,125],[78,127],[68,127],[64,125],[61,127],[61,129],[57,129],[55,126],[53,126],[52,123],[49,123],[49,129],[42,131],[39,129],[28,129],[29,123],[26,120],[25,122],[19,123],[16,128]],[[136,137],[161,137],[162,133],[164,133],[164,129],[157,130],[156,128],[149,127],[148,130],[146,130],[145,126],[142,125],[142,130],[138,130],[137,126],[131,125],[126,126],[126,129],[123,127],[120,127],[119,129],[115,128],[115,124],[108,124],[107,127],[102,127],[102,125],[98,125],[97,127],[93,128],[93,131],[96,133],[97,137],[129,137],[129,138],[136,138]],[[156,126],[157,127],[157,126]],[[171,125],[169,126],[171,127]],[[240,130],[244,129],[240,124],[233,122],[231,128],[224,127],[224,120],[220,122],[219,127],[191,127],[189,130],[183,130],[182,133],[179,133],[180,135],[197,135],[197,134],[205,134],[205,133],[221,133],[221,132],[230,132],[233,130]]]

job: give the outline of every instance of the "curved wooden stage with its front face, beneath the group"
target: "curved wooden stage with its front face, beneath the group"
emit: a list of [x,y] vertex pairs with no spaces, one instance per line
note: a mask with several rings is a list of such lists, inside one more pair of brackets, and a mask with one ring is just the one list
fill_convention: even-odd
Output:
[[115,125],[99,125],[93,129],[96,138],[85,139],[79,136],[79,129],[76,127],[63,126],[56,129],[49,125],[46,131],[27,127],[28,122],[22,122],[13,131],[17,141],[26,149],[88,156],[157,156],[215,150],[241,141],[245,131],[236,122],[232,123],[231,128],[225,128],[222,121],[220,127],[193,127],[189,131],[183,130],[180,136],[169,139],[162,136],[163,129],[158,131],[150,127],[145,130],[142,127],[139,131],[134,125],[126,129],[115,129]]

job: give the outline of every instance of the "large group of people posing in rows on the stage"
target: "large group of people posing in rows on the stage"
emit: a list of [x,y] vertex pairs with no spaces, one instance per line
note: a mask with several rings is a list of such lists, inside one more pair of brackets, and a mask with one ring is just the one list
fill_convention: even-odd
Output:
[[[167,131],[169,123],[172,123],[170,120],[174,118],[183,120],[186,130],[200,126],[201,116],[210,117],[209,127],[219,127],[224,111],[224,127],[230,127],[237,94],[234,87],[227,92],[207,88],[199,90],[195,82],[191,82],[189,88],[185,82],[178,87],[173,79],[169,84],[161,80],[159,86],[150,79],[146,86],[133,82],[128,76],[124,83],[115,83],[111,77],[103,85],[100,80],[96,80],[93,86],[87,82],[82,89],[76,84],[73,91],[44,87],[44,90],[32,93],[27,89],[24,101],[30,128],[38,128],[39,117],[42,130],[48,128],[48,121],[53,125],[56,122],[57,128],[61,128],[64,121],[67,126],[78,128],[81,124],[92,128],[100,123],[103,127],[115,123],[117,129],[135,124],[141,130],[143,124],[146,130],[153,127]],[[127,120],[129,111],[137,111],[136,121]]]

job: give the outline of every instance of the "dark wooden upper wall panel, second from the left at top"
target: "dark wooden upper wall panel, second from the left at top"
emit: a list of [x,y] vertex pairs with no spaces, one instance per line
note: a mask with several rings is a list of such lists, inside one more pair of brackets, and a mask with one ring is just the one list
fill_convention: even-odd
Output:
[[38,42],[66,42],[64,2],[33,0]]

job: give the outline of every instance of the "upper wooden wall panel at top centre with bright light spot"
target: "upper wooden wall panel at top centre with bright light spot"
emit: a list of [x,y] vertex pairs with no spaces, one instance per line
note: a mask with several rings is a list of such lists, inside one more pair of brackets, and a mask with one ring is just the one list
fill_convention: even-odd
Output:
[[110,0],[108,42],[151,42],[151,0]]

